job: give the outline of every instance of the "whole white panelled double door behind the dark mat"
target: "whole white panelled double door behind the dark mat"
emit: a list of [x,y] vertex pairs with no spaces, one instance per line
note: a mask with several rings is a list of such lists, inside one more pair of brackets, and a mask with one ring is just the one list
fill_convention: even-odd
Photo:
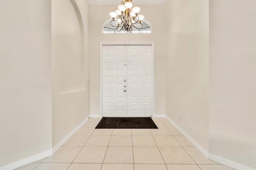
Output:
[[102,112],[152,116],[152,45],[102,46]]

